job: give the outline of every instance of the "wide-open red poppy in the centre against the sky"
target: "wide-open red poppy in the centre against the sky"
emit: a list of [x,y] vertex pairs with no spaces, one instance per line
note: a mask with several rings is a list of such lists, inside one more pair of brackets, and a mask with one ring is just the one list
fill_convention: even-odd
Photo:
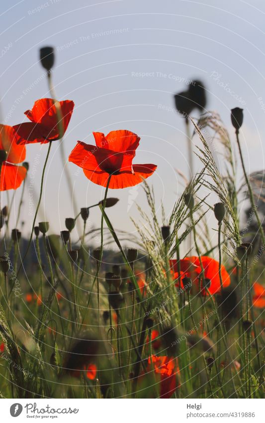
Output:
[[69,161],[82,167],[90,181],[109,188],[127,188],[142,182],[156,170],[155,164],[132,164],[140,138],[126,130],[111,131],[106,137],[93,132],[96,145],[78,141]]

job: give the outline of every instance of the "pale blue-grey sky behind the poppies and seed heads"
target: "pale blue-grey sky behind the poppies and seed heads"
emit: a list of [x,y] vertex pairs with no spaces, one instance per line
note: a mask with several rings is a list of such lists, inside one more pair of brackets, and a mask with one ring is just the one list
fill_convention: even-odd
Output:
[[[192,78],[205,83],[207,109],[220,113],[232,138],[230,109],[244,109],[247,168],[265,167],[264,21],[261,0],[2,3],[1,120],[8,125],[20,123],[36,99],[49,97],[38,50],[54,46],[57,98],[75,102],[63,141],[67,156],[77,140],[94,143],[92,131],[137,133],[141,141],[134,162],[158,165],[149,182],[155,186],[158,205],[162,200],[169,214],[182,189],[176,169],[188,175],[183,120],[169,108],[174,107],[173,94],[184,90]],[[66,217],[74,216],[58,147],[55,141],[40,214],[40,220],[52,223],[54,232],[64,229]],[[30,163],[40,154],[32,178],[37,193],[46,150],[47,145],[27,147]],[[75,175],[73,163],[67,165],[80,207],[103,197],[102,187],[89,182],[83,172]],[[141,187],[113,190],[109,195],[120,198],[119,207],[109,210],[114,226],[133,231],[129,217],[138,216],[135,203],[145,204]],[[32,220],[28,203],[26,189],[25,233]],[[99,210],[93,209],[90,223],[99,226],[99,218]]]

